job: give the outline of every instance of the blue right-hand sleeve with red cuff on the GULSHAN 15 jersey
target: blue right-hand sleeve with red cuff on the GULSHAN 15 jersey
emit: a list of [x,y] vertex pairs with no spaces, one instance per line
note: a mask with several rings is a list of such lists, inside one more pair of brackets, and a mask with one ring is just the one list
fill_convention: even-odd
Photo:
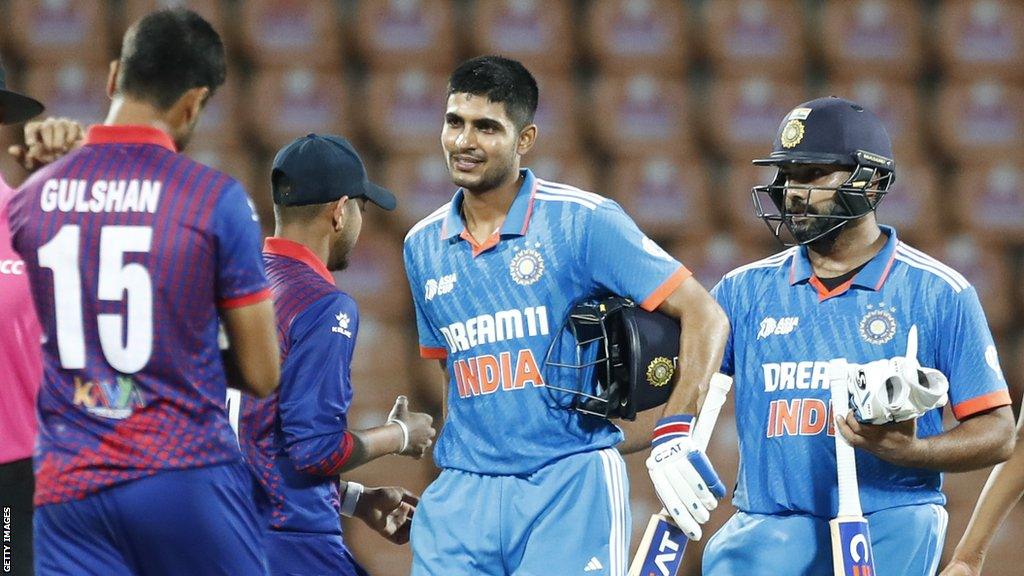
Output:
[[231,182],[213,212],[217,242],[217,305],[249,305],[270,297],[263,271],[259,220],[249,195]]

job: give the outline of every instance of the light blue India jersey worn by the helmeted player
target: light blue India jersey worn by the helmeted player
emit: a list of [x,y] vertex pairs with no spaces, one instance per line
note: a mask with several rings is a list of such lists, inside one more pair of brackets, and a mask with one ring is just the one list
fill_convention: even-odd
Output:
[[[735,376],[737,508],[835,516],[827,363],[902,356],[913,325],[918,359],[948,376],[956,418],[1010,404],[975,289],[899,242],[894,230],[883,232],[889,237],[883,250],[831,291],[814,276],[806,248],[736,269],[712,291],[732,325],[722,371]],[[939,409],[918,420],[919,437],[942,429]],[[890,464],[863,450],[857,477],[865,513],[945,502],[939,472]]]

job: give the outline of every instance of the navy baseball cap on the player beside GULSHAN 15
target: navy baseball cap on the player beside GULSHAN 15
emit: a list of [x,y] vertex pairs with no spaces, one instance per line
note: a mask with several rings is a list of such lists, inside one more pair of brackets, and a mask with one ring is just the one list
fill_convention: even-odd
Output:
[[307,134],[278,151],[270,171],[273,203],[281,206],[326,204],[343,196],[366,198],[385,210],[395,207],[394,195],[370,181],[367,167],[351,142],[341,136]]

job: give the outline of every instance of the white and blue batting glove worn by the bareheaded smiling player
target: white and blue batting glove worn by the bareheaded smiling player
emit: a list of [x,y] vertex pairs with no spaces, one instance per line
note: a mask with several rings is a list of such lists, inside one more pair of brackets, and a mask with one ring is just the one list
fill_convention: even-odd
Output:
[[725,486],[708,456],[690,440],[693,416],[662,418],[654,428],[647,471],[662,505],[691,540],[700,539],[700,525],[725,496]]

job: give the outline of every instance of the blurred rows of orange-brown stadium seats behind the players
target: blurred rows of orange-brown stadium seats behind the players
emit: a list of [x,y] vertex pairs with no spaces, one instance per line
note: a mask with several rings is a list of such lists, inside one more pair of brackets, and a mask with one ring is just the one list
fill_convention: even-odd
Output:
[[[749,193],[772,176],[750,161],[769,150],[781,117],[826,94],[873,110],[895,140],[898,173],[880,219],[975,284],[1019,404],[1020,0],[0,0],[8,85],[43,100],[48,114],[101,121],[122,33],[170,5],[208,17],[229,56],[227,84],[187,153],[246,184],[266,233],[273,152],[307,132],[352,139],[371,177],[399,199],[393,215],[370,210],[351,268],[337,275],[362,310],[356,426],[379,423],[398,394],[440,411],[436,367],[416,354],[401,240],[453,192],[438,141],[444,83],[458,61],[480,53],[519,58],[539,79],[540,138],[525,164],[621,202],[709,288],[777,250]],[[18,134],[7,128],[0,143]],[[0,169],[11,183],[24,177],[6,158]],[[730,411],[711,449],[728,483],[734,443]],[[642,458],[628,460],[635,546],[658,506]],[[430,461],[388,457],[350,478],[419,491],[434,474]],[[946,556],[986,476],[946,477]],[[728,511],[716,513],[714,528]],[[408,572],[408,547],[360,524],[346,526],[346,537],[372,572]],[[1021,541],[1018,507],[985,574],[1020,574]],[[699,573],[701,548],[690,546],[685,574]]]

